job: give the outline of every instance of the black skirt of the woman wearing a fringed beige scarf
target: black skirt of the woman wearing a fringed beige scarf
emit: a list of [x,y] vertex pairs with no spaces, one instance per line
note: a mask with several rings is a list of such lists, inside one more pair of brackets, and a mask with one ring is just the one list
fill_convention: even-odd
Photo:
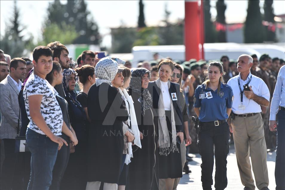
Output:
[[[169,132],[170,142],[172,142],[171,111],[165,111],[166,123]],[[176,143],[178,151],[170,152],[167,156],[159,155],[159,178],[182,177],[182,163],[180,155],[180,144]]]

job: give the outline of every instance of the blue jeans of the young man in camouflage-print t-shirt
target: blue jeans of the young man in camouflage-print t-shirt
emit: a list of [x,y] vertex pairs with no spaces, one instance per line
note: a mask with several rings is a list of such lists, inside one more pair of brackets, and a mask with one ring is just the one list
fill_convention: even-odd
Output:
[[31,175],[28,189],[48,190],[52,181],[58,144],[46,135],[27,129],[27,146],[31,151]]

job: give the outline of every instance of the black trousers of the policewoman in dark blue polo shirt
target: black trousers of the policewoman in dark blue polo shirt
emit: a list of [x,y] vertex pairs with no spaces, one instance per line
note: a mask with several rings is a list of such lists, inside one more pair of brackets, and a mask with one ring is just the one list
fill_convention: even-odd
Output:
[[[202,187],[204,190],[212,189],[212,173],[215,155],[215,188],[225,189],[228,184],[226,159],[229,153],[229,125],[225,122],[218,126],[200,125],[200,127],[203,128],[203,131],[198,135],[199,151],[202,158]],[[215,145],[214,150],[213,145]]]

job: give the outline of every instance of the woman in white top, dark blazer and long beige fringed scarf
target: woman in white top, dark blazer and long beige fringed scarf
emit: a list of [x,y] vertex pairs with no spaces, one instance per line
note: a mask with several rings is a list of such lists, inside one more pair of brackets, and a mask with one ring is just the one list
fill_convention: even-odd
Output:
[[170,59],[161,61],[159,78],[148,85],[153,98],[154,125],[158,127],[159,187],[167,190],[173,189],[175,178],[182,177],[180,144],[184,141],[180,86],[169,81],[173,64]]

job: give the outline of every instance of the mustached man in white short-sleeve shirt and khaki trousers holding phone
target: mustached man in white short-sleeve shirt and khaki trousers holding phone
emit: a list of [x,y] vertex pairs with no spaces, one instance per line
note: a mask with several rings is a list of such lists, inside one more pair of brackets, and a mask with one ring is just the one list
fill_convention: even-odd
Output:
[[245,190],[255,189],[252,170],[258,189],[268,189],[267,151],[261,117],[261,106],[269,105],[269,89],[265,82],[250,73],[253,59],[243,54],[238,58],[238,72],[228,81],[234,100],[229,119],[233,133],[240,179]]

